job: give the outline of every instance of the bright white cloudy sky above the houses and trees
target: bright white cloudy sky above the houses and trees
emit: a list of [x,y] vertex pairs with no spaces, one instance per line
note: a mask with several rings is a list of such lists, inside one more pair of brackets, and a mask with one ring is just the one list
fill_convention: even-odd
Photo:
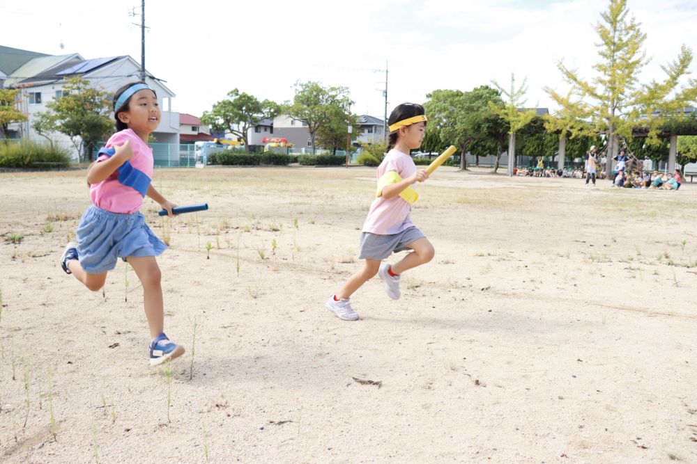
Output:
[[[526,106],[565,92],[556,63],[592,77],[595,25],[609,0],[146,0],[146,69],[176,94],[172,109],[201,115],[233,88],[259,99],[293,99],[297,81],[345,86],[352,113],[383,117],[436,89],[471,90],[526,79]],[[697,0],[629,0],[652,58],[641,81],[682,45],[697,50]],[[0,5],[0,45],[84,58],[141,59],[138,0],[30,0]],[[136,15],[132,16],[131,13]],[[134,24],[135,23],[135,24]],[[697,59],[690,67],[697,77]],[[687,83],[687,79],[683,79]]]

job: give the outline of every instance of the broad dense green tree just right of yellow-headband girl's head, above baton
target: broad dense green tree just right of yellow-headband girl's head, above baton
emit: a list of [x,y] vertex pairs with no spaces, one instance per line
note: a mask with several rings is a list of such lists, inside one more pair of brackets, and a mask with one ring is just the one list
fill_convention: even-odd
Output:
[[460,170],[466,170],[465,155],[470,145],[503,128],[503,121],[489,107],[489,102],[501,102],[499,93],[489,86],[480,86],[469,92],[434,90],[427,98],[424,108],[429,123],[425,138],[437,133],[444,145],[459,147]]

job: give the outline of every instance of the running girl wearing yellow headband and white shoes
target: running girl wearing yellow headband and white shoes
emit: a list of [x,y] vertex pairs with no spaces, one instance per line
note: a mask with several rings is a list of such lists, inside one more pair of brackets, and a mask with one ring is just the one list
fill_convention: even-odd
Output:
[[[400,296],[399,275],[426,264],[434,257],[431,242],[409,217],[411,204],[418,198],[412,185],[429,177],[426,170],[417,170],[410,155],[411,150],[421,146],[426,121],[424,107],[419,104],[401,104],[390,114],[388,153],[378,166],[376,198],[370,205],[360,235],[359,259],[365,259],[365,264],[326,303],[327,309],[339,319],[358,319],[349,298],[374,275],[378,274],[383,280],[388,296],[397,300]],[[411,253],[392,266],[382,262],[392,253],[404,250],[411,250]]]

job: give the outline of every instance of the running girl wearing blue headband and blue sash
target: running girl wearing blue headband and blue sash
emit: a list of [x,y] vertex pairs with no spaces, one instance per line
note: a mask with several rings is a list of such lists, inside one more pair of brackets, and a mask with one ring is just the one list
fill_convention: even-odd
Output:
[[164,335],[164,303],[161,273],[155,259],[167,246],[155,237],[140,212],[143,199],[158,202],[171,216],[174,203],[167,201],[151,184],[153,149],[148,136],[160,125],[160,106],[155,90],[145,83],[129,83],[114,95],[116,134],[112,135],[97,161],[89,168],[92,205],[77,226],[77,242],[70,242],[61,257],[61,267],[97,291],[118,258],[128,262],[143,285],[145,314],[150,326],[150,364],[183,355],[184,348]]

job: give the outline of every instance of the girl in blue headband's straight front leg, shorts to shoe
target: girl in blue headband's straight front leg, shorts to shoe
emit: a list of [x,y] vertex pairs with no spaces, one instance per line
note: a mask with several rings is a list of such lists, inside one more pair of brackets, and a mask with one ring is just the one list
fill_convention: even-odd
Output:
[[155,338],[164,332],[164,301],[162,300],[162,273],[154,256],[126,258],[143,285],[143,303],[148,318],[150,335]]

